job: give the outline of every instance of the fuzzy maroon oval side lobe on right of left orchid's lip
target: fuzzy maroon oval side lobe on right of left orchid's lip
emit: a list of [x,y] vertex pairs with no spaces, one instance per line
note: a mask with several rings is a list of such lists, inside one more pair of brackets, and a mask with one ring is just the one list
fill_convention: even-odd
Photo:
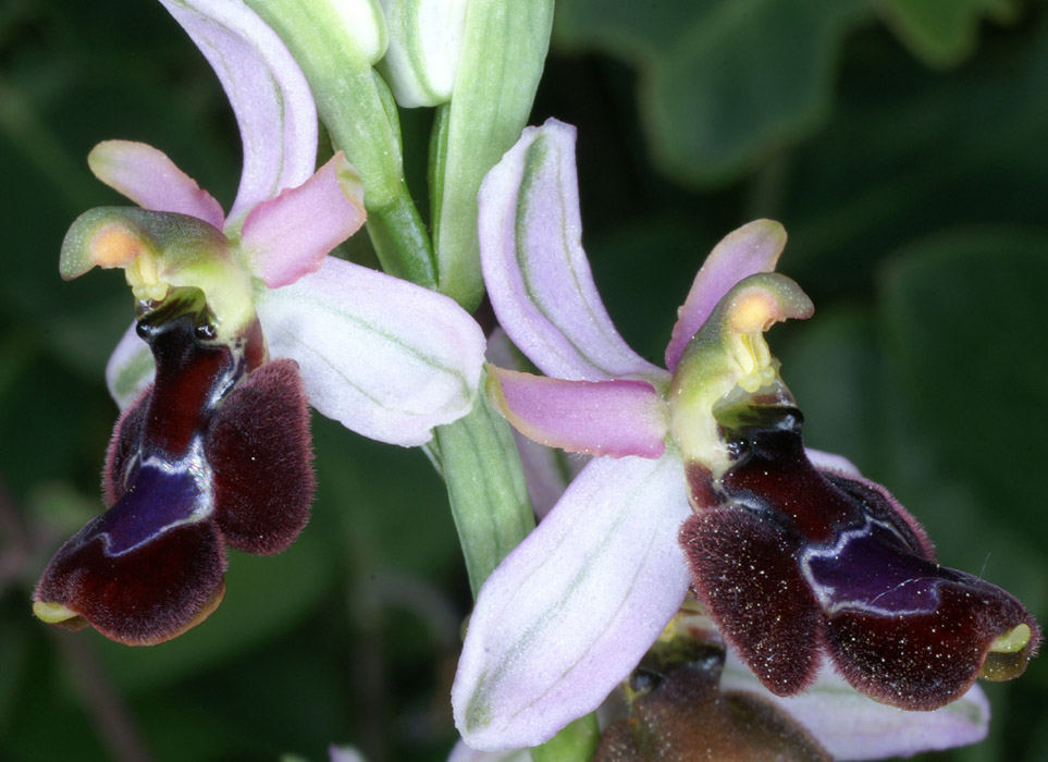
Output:
[[298,364],[274,360],[236,386],[214,415],[205,453],[226,542],[248,553],[287,548],[309,519],[315,486]]

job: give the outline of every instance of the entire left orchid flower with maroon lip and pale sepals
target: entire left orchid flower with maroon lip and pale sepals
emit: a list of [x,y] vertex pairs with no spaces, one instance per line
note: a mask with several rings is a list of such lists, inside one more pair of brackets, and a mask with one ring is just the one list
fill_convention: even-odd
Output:
[[363,222],[360,179],[341,152],[313,172],[316,107],[273,30],[239,3],[164,4],[222,81],[244,173],[226,216],[155,148],[91,151],[140,208],[82,214],[61,272],[122,268],[137,324],[107,370],[123,408],[110,507],[34,594],[41,619],[131,644],[218,605],[226,545],[275,553],[297,537],[313,491],[307,401],[372,439],[422,444],[469,411],[484,352],[451,299],[329,255]]

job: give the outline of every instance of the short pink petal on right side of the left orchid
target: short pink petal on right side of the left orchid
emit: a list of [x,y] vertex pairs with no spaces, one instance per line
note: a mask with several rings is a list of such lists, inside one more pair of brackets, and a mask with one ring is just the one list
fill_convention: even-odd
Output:
[[244,220],[241,249],[270,288],[316,272],[324,255],[365,220],[363,185],[342,151],[296,188],[262,201]]

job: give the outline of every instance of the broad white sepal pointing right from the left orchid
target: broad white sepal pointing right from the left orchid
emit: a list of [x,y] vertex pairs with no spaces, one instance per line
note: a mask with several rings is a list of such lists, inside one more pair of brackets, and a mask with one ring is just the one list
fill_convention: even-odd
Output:
[[257,309],[270,354],[298,361],[310,404],[365,437],[423,444],[472,407],[484,335],[446,296],[328,257],[262,290]]

